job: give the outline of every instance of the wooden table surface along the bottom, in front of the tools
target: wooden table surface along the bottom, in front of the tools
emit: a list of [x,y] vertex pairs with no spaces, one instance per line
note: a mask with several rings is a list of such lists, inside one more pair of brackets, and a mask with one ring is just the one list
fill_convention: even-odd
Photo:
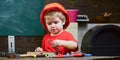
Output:
[[0,57],[0,60],[120,60],[120,56],[92,56],[92,57],[69,57],[69,58],[6,58]]

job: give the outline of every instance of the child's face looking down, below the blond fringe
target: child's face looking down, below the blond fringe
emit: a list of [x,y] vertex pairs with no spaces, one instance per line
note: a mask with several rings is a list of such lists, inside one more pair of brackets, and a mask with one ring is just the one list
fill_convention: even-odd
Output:
[[58,17],[46,19],[48,31],[53,35],[57,35],[63,30],[63,23],[64,22],[62,22],[62,20],[60,20]]

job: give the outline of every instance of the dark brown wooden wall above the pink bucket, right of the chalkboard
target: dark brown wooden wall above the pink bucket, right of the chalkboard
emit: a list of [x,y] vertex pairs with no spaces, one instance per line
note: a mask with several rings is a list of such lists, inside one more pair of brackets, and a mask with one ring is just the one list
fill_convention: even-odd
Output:
[[109,22],[120,22],[119,0],[75,0],[77,2],[73,5],[71,5],[69,1],[70,0],[45,0],[45,4],[59,2],[66,9],[74,6],[74,8],[79,9],[80,15],[88,15],[91,22],[98,19],[99,16],[102,17],[101,20],[105,20],[103,18],[105,12],[112,14],[108,18],[110,20]]

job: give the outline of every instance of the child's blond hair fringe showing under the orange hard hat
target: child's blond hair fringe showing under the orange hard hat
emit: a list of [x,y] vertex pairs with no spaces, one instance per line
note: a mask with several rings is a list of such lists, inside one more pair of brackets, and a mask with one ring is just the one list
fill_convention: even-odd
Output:
[[58,17],[60,20],[62,20],[62,22],[66,21],[65,15],[59,11],[51,11],[51,12],[45,14],[44,20],[46,20],[47,18],[56,18],[56,17]]

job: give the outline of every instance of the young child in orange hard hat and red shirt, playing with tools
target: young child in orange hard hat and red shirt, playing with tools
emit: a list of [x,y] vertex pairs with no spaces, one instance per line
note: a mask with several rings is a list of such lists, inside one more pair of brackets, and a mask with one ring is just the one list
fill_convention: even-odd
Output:
[[78,50],[78,42],[65,29],[68,27],[69,15],[59,3],[47,4],[41,12],[40,21],[48,33],[43,37],[42,47],[36,52],[58,52],[67,54]]

